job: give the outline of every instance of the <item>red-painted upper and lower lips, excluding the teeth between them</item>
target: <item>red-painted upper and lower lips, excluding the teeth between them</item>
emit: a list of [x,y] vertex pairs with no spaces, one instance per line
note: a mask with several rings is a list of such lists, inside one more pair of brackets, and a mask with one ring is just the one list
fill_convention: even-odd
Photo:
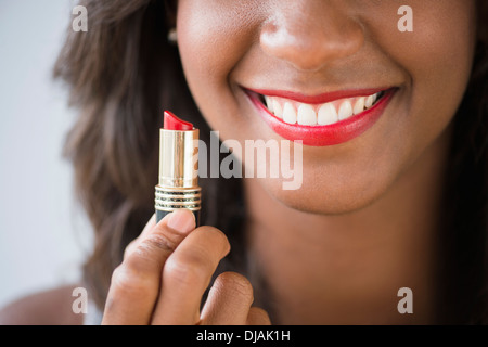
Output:
[[[384,91],[384,95],[371,108],[354,115],[347,119],[328,126],[303,126],[287,124],[274,116],[259,100],[259,94],[281,97],[301,103],[318,104],[338,99],[371,95]],[[389,104],[396,89],[364,89],[354,91],[338,91],[317,97],[305,97],[293,92],[246,90],[251,101],[258,108],[260,116],[279,136],[291,140],[301,140],[303,144],[310,146],[325,146],[341,144],[350,141],[370,129],[381,117]]]

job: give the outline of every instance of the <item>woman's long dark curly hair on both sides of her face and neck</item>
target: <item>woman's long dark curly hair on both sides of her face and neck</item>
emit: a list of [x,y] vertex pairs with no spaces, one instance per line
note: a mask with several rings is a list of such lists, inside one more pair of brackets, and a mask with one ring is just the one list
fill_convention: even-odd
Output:
[[[76,192],[94,229],[84,280],[101,309],[124,248],[154,213],[162,105],[184,115],[201,129],[202,140],[209,140],[178,50],[167,42],[175,3],[81,1],[90,28],[68,31],[54,66],[54,77],[70,88],[70,105],[80,110],[65,155],[73,162]],[[481,26],[488,20],[487,1],[478,1],[478,13],[476,57],[453,118],[445,189],[446,293],[439,303],[445,323],[488,323],[488,28]],[[201,180],[202,222],[230,239],[233,252],[223,268],[253,277],[242,232],[246,211],[241,184],[239,179]]]

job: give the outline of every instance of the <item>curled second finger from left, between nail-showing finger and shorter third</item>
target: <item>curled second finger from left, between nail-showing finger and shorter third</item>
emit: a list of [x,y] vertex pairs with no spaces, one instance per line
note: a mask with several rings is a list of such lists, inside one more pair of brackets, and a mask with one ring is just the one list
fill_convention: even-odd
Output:
[[195,229],[166,261],[153,324],[196,324],[200,305],[217,265],[230,250],[218,229]]

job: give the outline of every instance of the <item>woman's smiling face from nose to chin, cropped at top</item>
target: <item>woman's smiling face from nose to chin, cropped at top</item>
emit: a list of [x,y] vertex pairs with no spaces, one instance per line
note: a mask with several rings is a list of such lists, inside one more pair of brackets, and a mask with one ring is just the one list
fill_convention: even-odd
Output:
[[301,139],[301,189],[260,184],[335,214],[382,196],[446,132],[470,78],[476,4],[179,0],[177,28],[190,89],[221,140]]

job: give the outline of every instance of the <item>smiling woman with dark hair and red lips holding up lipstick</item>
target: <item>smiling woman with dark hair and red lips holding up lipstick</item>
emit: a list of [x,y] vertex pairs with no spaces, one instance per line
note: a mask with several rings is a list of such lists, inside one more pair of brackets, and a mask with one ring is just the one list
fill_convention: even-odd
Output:
[[[69,33],[55,76],[81,110],[66,154],[95,231],[84,286],[103,323],[488,321],[486,2],[81,4],[88,33]],[[203,179],[203,227],[188,211],[155,226],[163,107],[205,141],[304,134],[300,189]],[[359,130],[334,143],[299,130],[342,120]],[[81,323],[70,290],[3,317]]]

